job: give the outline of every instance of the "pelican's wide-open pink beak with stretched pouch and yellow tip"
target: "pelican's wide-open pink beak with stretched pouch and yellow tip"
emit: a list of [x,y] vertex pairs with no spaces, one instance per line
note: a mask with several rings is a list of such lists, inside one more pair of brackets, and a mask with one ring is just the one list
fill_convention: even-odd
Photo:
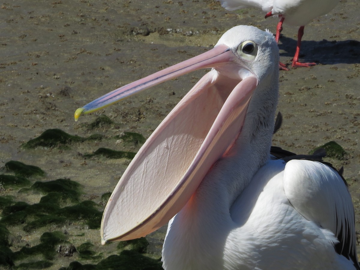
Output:
[[[104,211],[102,243],[143,237],[184,207],[211,166],[238,137],[257,78],[229,78],[244,68],[225,45],[217,45],[94,100],[76,111],[93,112],[171,78],[213,67],[184,96],[136,154]],[[234,72],[237,73],[237,72]],[[241,72],[238,72],[239,74]]]

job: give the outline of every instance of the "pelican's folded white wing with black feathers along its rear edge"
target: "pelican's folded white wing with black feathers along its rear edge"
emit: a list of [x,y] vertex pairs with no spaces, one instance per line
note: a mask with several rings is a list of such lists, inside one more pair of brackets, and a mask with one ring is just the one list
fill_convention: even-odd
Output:
[[328,229],[338,238],[334,248],[354,262],[355,214],[345,180],[328,164],[292,159],[285,165],[284,191],[293,207],[306,219]]

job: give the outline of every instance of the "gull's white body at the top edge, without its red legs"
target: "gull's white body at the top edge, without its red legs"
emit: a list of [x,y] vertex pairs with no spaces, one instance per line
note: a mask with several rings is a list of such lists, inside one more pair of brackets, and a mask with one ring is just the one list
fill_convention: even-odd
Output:
[[292,26],[305,26],[312,19],[329,13],[339,0],[220,0],[224,8],[234,10],[253,6],[273,15],[282,15]]

